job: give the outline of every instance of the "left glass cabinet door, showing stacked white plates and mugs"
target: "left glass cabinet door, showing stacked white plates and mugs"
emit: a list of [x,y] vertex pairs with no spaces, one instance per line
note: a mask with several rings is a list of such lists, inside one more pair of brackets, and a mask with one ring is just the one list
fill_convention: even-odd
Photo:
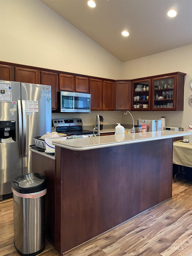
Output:
[[131,110],[150,110],[151,80],[135,80],[132,82]]

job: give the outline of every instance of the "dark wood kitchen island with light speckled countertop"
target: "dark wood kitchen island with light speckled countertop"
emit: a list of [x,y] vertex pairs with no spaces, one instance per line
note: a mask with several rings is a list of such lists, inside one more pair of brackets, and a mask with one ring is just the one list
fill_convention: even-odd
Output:
[[170,199],[173,137],[188,134],[55,141],[55,160],[32,152],[33,171],[47,178],[46,237],[60,255]]

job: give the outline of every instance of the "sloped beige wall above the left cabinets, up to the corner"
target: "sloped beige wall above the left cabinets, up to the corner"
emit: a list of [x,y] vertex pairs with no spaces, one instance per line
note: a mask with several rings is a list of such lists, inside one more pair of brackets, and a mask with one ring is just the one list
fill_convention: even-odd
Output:
[[122,63],[38,0],[0,0],[0,60],[117,79]]

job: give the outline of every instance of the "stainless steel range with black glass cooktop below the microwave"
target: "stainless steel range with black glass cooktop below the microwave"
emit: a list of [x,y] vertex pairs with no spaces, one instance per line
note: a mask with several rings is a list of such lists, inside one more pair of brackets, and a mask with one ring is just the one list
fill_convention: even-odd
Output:
[[[81,118],[59,118],[52,119],[52,127],[59,133],[67,135],[86,135],[93,134],[93,131],[83,130]],[[95,132],[97,134],[97,132]]]

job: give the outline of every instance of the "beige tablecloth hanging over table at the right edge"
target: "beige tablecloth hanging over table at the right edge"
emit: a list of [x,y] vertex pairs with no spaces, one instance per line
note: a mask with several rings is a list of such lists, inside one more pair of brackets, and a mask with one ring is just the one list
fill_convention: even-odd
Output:
[[173,142],[173,164],[192,167],[192,145],[184,142]]

